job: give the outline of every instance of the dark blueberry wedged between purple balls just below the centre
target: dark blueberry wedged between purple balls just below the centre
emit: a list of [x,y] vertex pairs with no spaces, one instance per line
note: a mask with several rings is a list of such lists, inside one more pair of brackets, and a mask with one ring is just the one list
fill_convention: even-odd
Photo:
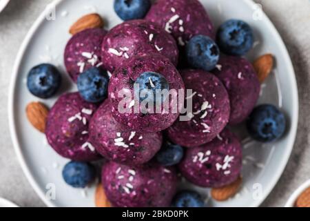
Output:
[[182,160],[183,152],[182,146],[166,142],[157,153],[156,159],[163,166],[173,166]]

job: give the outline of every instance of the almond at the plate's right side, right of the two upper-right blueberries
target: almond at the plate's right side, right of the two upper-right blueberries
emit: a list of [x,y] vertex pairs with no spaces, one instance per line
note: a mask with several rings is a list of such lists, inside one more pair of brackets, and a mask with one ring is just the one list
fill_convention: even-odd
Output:
[[273,56],[271,54],[262,55],[254,61],[253,66],[260,83],[262,83],[271,73],[273,68]]

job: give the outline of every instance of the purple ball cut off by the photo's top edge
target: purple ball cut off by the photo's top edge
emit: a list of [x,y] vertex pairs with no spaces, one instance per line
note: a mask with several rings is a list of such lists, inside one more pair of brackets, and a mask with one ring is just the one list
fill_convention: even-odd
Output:
[[198,0],[158,0],[145,19],[158,23],[172,34],[180,47],[195,35],[215,37],[213,23]]

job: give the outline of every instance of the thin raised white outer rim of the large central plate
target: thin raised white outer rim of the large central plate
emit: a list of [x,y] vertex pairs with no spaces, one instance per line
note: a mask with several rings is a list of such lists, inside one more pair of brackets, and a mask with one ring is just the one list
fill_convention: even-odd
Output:
[[[61,3],[63,0],[54,0],[52,3],[49,3],[48,5],[57,6],[59,3]],[[249,8],[253,7],[254,4],[256,4],[253,0],[242,0],[245,4],[249,6]],[[35,32],[39,28],[39,26],[43,23],[45,18],[47,8],[41,12],[41,15],[34,21],[33,25],[31,26],[30,30],[28,31],[27,35],[25,35],[25,38],[23,39],[23,42],[19,48],[19,51],[17,52],[17,58],[14,61],[14,66],[12,69],[12,76],[10,79],[10,86],[9,86],[9,95],[8,95],[8,119],[9,119],[9,128],[10,128],[10,136],[11,140],[14,146],[14,151],[17,155],[17,159],[19,161],[19,164],[21,165],[21,169],[23,173],[25,174],[25,177],[27,178],[28,182],[30,182],[30,185],[34,189],[34,191],[39,195],[39,198],[50,207],[56,206],[54,202],[47,200],[45,198],[45,194],[41,190],[41,187],[39,186],[38,182],[34,179],[34,176],[31,173],[31,170],[25,161],[25,158],[23,156],[23,153],[21,151],[21,145],[19,144],[19,140],[17,137],[17,130],[15,126],[15,116],[14,116],[14,97],[16,95],[15,89],[16,89],[16,82],[18,77],[18,70],[21,66],[21,61],[23,59],[23,55],[25,54],[25,49],[27,48],[30,40],[34,36]],[[289,157],[291,156],[293,146],[296,140],[296,133],[298,128],[298,111],[299,111],[299,99],[298,99],[298,87],[297,87],[297,81],[296,81],[296,73],[293,69],[293,64],[291,61],[291,57],[289,57],[289,52],[285,46],[284,41],[282,40],[282,37],[280,36],[278,30],[273,25],[269,17],[265,14],[265,12],[262,11],[262,16],[265,17],[266,25],[269,26],[270,31],[272,32],[272,35],[276,37],[278,43],[280,44],[280,50],[283,52],[282,55],[285,57],[287,61],[287,71],[289,72],[289,81],[291,81],[291,86],[293,87],[293,101],[292,101],[292,119],[291,119],[291,135],[289,136],[289,140],[287,141],[287,148],[286,154],[284,155],[283,159],[279,163],[278,169],[275,173],[275,178],[271,180],[271,182],[268,183],[267,187],[265,187],[264,191],[264,197],[255,200],[254,203],[251,205],[253,207],[260,206],[264,200],[267,199],[272,189],[276,186],[278,180],[282,176],[283,171],[285,170],[287,163],[289,162]]]

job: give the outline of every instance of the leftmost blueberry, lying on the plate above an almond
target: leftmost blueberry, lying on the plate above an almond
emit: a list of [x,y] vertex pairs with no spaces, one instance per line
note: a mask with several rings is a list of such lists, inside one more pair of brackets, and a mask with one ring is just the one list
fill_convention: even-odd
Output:
[[28,73],[27,86],[32,95],[52,97],[61,85],[61,74],[52,64],[39,64]]

